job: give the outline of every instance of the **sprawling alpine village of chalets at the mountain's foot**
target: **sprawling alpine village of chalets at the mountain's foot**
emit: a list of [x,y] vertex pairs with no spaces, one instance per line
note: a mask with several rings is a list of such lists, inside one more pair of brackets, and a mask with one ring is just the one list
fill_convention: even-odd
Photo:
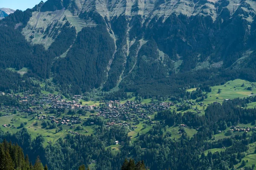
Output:
[[[97,125],[96,119],[105,120],[105,126],[123,125],[130,130],[135,130],[140,122],[148,125],[154,124],[154,115],[158,111],[172,109],[175,105],[171,102],[159,102],[157,104],[141,104],[135,101],[127,101],[121,104],[120,101],[101,101],[98,105],[82,105],[82,96],[76,95],[73,100],[61,99],[58,94],[29,94],[29,91],[23,95],[9,95],[17,99],[20,106],[1,106],[2,116],[21,113],[33,115],[37,121],[48,121],[56,125],[69,126],[70,129],[76,128],[76,125],[93,126]],[[179,107],[179,105],[176,105]],[[4,127],[9,127],[4,124]],[[85,132],[88,132],[85,130]],[[78,135],[78,132],[71,130],[68,133]]]

